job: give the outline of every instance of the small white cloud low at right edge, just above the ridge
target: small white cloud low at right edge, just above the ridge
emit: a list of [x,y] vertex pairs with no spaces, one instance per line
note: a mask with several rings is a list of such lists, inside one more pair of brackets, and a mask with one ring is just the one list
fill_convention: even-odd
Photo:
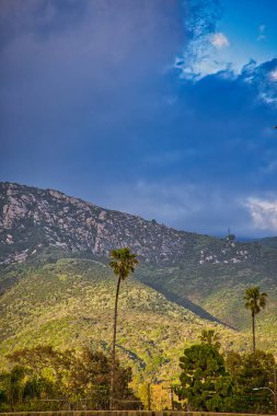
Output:
[[277,199],[249,198],[245,205],[254,227],[259,230],[277,231]]

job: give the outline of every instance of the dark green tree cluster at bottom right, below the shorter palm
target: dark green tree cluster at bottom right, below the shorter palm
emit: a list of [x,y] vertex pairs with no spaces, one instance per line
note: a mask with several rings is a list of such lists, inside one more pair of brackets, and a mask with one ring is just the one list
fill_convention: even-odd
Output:
[[256,350],[220,354],[218,336],[204,331],[201,343],[184,350],[183,370],[175,394],[188,411],[270,413],[276,362],[272,354]]

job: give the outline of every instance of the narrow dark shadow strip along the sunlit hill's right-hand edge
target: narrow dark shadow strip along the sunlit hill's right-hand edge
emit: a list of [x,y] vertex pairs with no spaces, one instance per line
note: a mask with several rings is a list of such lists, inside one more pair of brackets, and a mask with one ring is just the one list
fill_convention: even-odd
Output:
[[172,293],[169,290],[164,289],[163,287],[159,285],[150,285],[149,282],[145,282],[145,285],[150,286],[152,289],[158,290],[160,293],[162,293],[169,301],[174,302],[178,304],[182,308],[187,309],[188,311],[195,313],[199,317],[204,320],[208,320],[211,322],[217,322],[218,324],[224,325],[231,330],[235,330],[233,326],[226,324],[224,322],[220,321],[218,317],[211,315],[209,312],[207,312],[205,309],[199,307],[198,304],[195,304],[187,298],[183,298],[177,296],[176,293]]

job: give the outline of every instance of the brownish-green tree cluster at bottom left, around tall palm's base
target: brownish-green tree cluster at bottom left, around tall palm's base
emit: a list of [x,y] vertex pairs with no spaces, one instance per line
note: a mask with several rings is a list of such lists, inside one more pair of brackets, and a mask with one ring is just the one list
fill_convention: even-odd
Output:
[[[108,408],[111,359],[100,351],[37,346],[18,350],[9,360],[10,371],[0,373],[1,411]],[[116,361],[114,374],[114,406],[140,408],[128,386],[130,368]]]

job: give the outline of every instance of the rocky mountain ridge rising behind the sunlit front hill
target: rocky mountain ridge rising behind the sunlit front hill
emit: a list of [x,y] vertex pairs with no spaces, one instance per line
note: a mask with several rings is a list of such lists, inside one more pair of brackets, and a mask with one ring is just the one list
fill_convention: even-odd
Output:
[[[274,240],[273,240],[274,242]],[[16,264],[39,268],[62,257],[107,264],[112,249],[129,246],[140,261],[137,278],[168,301],[209,322],[247,331],[247,287],[268,292],[261,314],[265,345],[277,343],[277,247],[177,231],[138,216],[107,210],[54,189],[0,183],[0,292],[20,282]],[[7,273],[4,271],[8,268]],[[276,330],[275,330],[276,328]],[[264,337],[264,338],[265,338]],[[269,339],[270,338],[270,339]]]

